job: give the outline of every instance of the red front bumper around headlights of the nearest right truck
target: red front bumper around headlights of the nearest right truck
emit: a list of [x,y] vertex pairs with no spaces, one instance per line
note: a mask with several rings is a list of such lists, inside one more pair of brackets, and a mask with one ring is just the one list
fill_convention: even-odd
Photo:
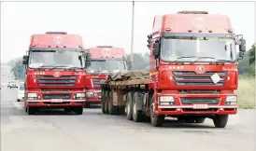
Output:
[[[159,103],[161,96],[173,96],[173,104],[164,105]],[[163,94],[157,95],[157,103],[155,105],[155,112],[158,115],[166,116],[206,116],[206,115],[235,115],[237,113],[236,104],[226,104],[227,96],[236,96],[234,93],[229,94]],[[198,98],[199,100],[204,98],[218,98],[219,101],[216,104],[210,103],[190,103],[184,104],[181,98]]]

